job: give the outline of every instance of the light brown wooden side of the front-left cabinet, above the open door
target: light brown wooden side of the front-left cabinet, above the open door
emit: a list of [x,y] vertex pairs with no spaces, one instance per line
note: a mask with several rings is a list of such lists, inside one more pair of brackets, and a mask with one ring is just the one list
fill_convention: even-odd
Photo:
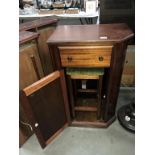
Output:
[[42,66],[35,43],[28,43],[20,47],[19,52],[19,87],[23,89],[38,79],[31,57],[34,57],[40,77],[43,76]]

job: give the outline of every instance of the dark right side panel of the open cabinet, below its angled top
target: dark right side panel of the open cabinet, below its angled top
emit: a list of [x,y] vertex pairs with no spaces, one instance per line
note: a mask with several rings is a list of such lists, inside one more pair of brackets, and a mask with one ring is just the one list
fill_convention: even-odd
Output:
[[115,115],[121,76],[124,67],[127,42],[116,44],[112,51],[109,79],[106,90],[104,120],[108,121]]

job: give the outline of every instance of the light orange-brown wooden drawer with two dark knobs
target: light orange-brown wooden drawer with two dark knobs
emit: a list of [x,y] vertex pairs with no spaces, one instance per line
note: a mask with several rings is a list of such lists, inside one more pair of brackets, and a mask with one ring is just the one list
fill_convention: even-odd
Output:
[[62,67],[109,67],[112,46],[59,47]]

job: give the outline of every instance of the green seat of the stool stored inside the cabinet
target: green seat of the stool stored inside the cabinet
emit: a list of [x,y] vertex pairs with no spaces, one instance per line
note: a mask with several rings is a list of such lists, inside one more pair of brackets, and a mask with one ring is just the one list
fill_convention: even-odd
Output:
[[104,75],[104,68],[66,68],[66,74],[72,79],[99,79]]

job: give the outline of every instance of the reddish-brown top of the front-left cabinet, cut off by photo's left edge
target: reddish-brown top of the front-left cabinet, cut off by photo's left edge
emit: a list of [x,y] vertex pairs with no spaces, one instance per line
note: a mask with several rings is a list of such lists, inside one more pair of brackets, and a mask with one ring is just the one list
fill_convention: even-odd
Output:
[[30,40],[38,38],[39,34],[29,31],[21,31],[19,32],[19,44],[23,44],[25,42],[28,42]]

